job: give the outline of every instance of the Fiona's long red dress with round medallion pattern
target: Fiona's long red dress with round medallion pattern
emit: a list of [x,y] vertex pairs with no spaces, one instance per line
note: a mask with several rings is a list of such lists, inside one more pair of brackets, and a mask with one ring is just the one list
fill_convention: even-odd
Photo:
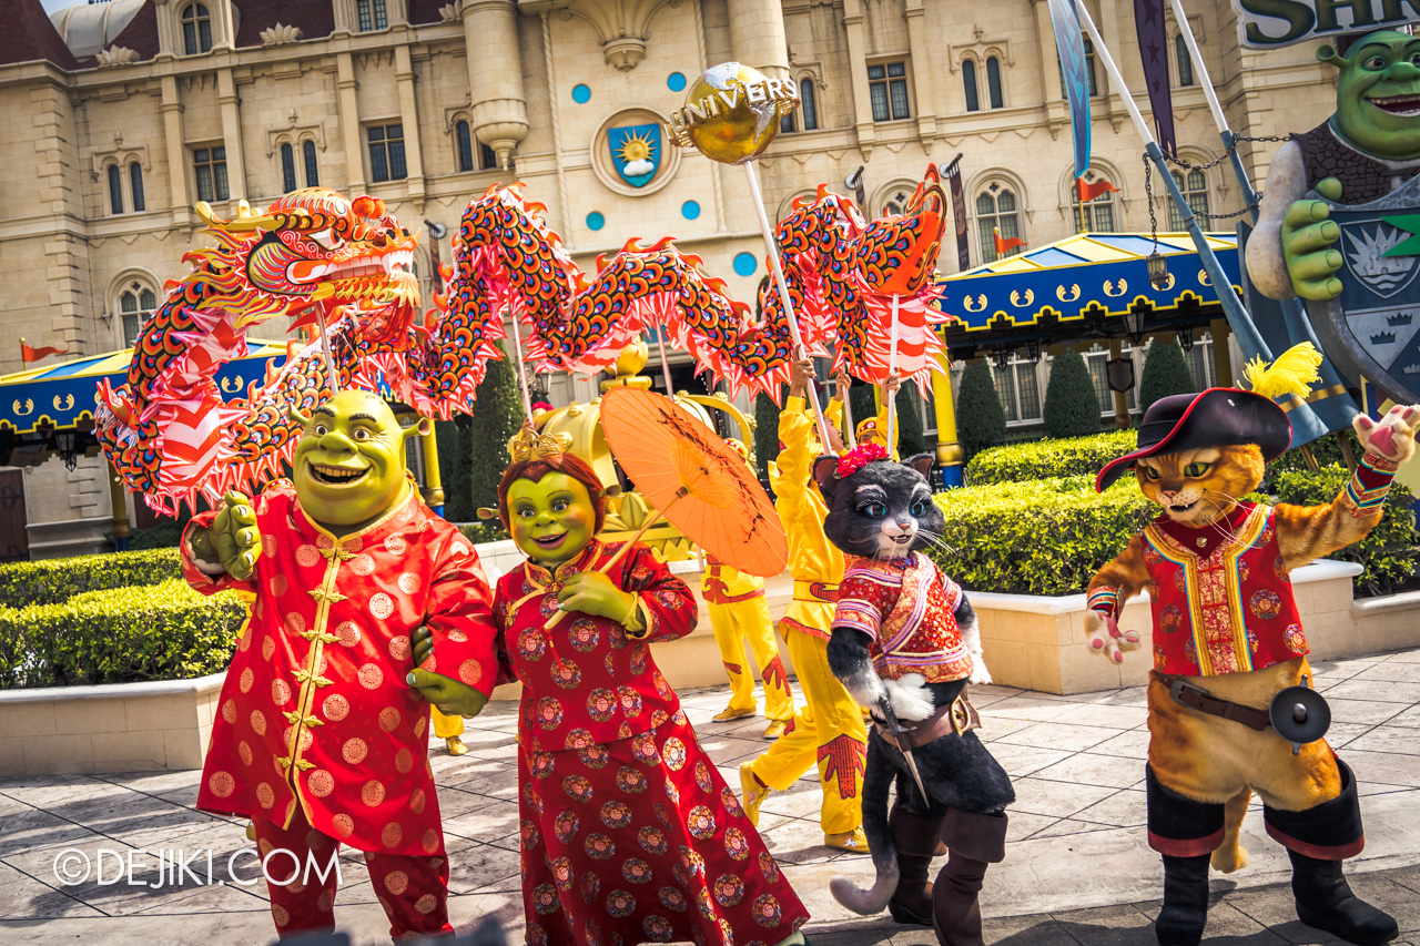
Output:
[[498,581],[500,658],[523,682],[518,801],[527,942],[774,946],[808,919],[740,801],[700,750],[648,643],[694,628],[696,601],[645,547],[609,578],[648,632],[574,614],[557,592],[619,545],[596,540],[555,572]]

